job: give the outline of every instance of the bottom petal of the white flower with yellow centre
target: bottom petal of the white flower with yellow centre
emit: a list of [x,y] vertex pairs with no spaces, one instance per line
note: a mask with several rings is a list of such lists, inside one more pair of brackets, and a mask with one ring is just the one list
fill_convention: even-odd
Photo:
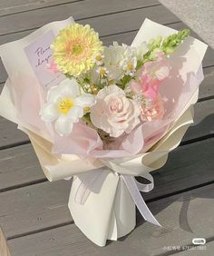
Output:
[[61,136],[68,135],[72,133],[73,122],[66,115],[60,115],[55,122],[55,130]]

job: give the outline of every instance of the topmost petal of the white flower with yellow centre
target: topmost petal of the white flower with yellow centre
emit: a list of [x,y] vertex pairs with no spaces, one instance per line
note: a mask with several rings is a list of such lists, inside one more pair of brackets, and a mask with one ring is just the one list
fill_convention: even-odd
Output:
[[61,94],[63,96],[72,96],[75,98],[80,94],[80,85],[73,79],[64,79],[59,85]]

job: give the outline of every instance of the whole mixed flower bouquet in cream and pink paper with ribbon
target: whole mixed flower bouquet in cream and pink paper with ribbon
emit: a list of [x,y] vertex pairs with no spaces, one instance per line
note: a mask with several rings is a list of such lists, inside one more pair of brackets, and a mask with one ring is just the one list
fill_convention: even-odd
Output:
[[107,47],[72,18],[0,47],[1,114],[28,134],[50,181],[73,177],[70,212],[96,244],[129,233],[135,205],[160,225],[141,192],[192,123],[206,48],[148,19],[131,45]]

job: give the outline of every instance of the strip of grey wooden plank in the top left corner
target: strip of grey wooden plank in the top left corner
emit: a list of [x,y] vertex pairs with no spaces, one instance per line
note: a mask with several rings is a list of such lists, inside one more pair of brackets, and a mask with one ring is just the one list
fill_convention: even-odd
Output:
[[1,0],[0,16],[41,9],[53,5],[64,5],[66,3],[79,2],[83,0]]

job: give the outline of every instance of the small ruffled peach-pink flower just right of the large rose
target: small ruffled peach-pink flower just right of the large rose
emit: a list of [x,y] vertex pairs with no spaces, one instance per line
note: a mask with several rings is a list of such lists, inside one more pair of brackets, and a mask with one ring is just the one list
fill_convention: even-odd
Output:
[[164,104],[160,94],[157,96],[156,100],[151,103],[141,104],[141,120],[142,121],[152,121],[162,119],[165,113]]

